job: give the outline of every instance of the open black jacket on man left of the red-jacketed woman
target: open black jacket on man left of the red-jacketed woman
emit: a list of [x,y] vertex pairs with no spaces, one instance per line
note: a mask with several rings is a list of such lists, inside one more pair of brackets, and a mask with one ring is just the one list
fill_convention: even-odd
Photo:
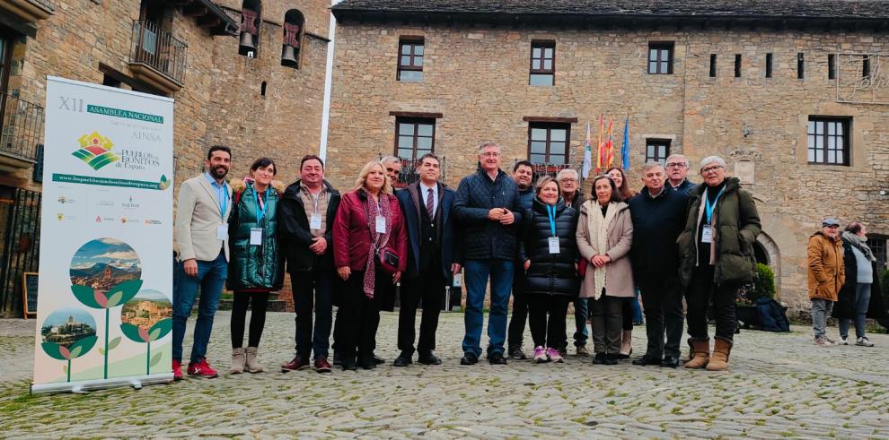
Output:
[[305,212],[303,197],[300,196],[300,180],[287,186],[284,196],[281,198],[281,206],[278,210],[278,224],[280,224],[279,237],[284,246],[287,272],[310,272],[333,270],[333,223],[337,218],[339,208],[339,192],[325,180],[324,191],[328,194],[327,229],[324,231],[324,239],[327,240],[327,251],[323,255],[315,255],[309,246],[312,246],[313,236],[309,229],[309,218]]

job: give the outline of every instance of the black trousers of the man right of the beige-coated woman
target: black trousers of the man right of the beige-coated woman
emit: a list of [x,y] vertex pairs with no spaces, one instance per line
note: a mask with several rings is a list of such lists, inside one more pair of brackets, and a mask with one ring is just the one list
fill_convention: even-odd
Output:
[[679,277],[675,274],[647,274],[639,277],[638,285],[645,304],[646,355],[649,358],[679,358],[683,325]]

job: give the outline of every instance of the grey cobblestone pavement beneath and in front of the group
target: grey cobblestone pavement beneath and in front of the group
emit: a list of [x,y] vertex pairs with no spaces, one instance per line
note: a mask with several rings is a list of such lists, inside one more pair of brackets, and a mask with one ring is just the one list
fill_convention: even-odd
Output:
[[[209,352],[220,371],[231,353],[228,320],[217,315]],[[390,361],[397,320],[383,314],[378,337],[378,354]],[[442,366],[282,374],[293,315],[269,314],[260,347],[268,373],[35,397],[33,325],[0,320],[0,437],[889,437],[882,334],[867,349],[816,347],[805,327],[742,332],[726,373],[593,366],[574,357],[462,367],[462,315],[447,314],[438,333]],[[637,327],[636,353],[644,344]]]

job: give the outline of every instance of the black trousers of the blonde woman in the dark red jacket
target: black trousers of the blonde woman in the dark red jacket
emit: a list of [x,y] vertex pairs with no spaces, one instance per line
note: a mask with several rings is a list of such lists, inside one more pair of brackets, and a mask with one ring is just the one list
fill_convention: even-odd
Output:
[[376,331],[380,326],[381,297],[384,289],[392,285],[392,275],[376,271],[374,298],[364,292],[365,272],[353,271],[346,280],[342,304],[337,311],[336,331],[339,332],[337,350],[344,362],[356,358],[369,358],[374,354]]

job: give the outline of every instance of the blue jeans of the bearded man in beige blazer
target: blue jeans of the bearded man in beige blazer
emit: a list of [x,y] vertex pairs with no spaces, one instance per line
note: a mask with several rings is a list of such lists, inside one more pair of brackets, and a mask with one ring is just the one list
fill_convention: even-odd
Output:
[[228,277],[228,262],[225,253],[220,252],[212,262],[198,261],[198,276],[185,273],[184,263],[176,263],[173,274],[173,360],[182,360],[182,341],[185,339],[185,323],[191,315],[191,308],[198,299],[198,322],[195,324],[195,342],[191,346],[191,362],[200,362],[207,356],[207,343],[213,330],[213,315],[219,305],[219,296],[225,278]]

